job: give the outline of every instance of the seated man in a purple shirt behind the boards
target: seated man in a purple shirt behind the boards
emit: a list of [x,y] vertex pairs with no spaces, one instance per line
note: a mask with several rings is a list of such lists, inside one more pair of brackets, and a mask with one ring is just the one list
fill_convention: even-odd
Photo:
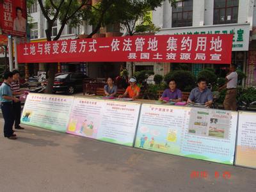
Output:
[[159,100],[168,100],[172,102],[182,101],[182,92],[176,88],[177,84],[174,79],[169,82],[169,88],[164,90],[162,97]]

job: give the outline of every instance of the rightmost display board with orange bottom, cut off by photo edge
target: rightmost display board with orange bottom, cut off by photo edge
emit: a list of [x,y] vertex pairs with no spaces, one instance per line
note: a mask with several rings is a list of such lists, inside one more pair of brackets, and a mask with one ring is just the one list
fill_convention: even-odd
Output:
[[256,113],[239,112],[235,164],[256,168]]

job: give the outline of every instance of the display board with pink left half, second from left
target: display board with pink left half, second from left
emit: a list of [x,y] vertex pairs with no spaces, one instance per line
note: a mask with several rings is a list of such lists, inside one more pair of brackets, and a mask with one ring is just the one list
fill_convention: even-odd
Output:
[[67,133],[132,146],[140,103],[76,97]]

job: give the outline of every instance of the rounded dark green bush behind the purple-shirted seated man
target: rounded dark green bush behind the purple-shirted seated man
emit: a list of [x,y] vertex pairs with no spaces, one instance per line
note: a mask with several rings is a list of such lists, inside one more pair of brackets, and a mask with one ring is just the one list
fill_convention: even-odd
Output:
[[193,76],[193,74],[187,70],[175,70],[166,74],[164,77],[166,84],[169,84],[170,79],[175,79],[177,88],[183,92],[190,92],[193,88],[195,88],[196,85],[195,76]]

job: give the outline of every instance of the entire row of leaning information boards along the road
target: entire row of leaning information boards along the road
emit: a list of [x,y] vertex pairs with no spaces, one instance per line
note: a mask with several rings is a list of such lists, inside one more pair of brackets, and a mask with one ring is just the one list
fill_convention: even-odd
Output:
[[29,93],[21,122],[129,147],[256,168],[253,117],[256,113]]

